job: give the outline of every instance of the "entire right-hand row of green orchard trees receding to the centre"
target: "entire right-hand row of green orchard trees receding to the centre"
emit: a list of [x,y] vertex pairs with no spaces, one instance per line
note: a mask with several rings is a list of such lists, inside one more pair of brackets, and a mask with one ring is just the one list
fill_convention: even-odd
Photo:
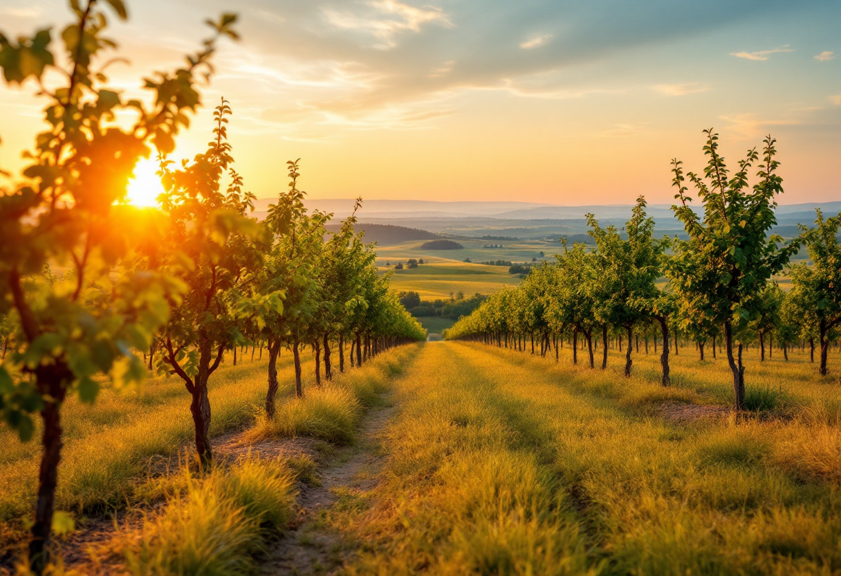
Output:
[[[448,339],[473,339],[523,349],[537,337],[545,355],[563,345],[569,334],[578,361],[578,339],[584,339],[595,365],[593,339],[603,343],[601,367],[607,365],[609,337],[627,336],[625,375],[632,371],[632,339],[659,326],[662,339],[662,384],[669,386],[670,331],[694,339],[703,359],[708,341],[724,340],[733,372],[734,407],[744,408],[743,348],[759,340],[764,359],[767,337],[785,346],[799,339],[820,348],[820,372],[827,373],[830,340],[841,325],[841,215],[824,218],[817,211],[814,228],[783,243],[769,235],[775,225],[775,196],[782,193],[776,171],[775,141],[764,141],[738,163],[730,176],[718,152],[718,137],[705,131],[708,163],[702,175],[684,174],[672,163],[679,200],[673,210],[685,225],[688,240],[653,236],[654,221],[641,196],[621,237],[615,227],[602,228],[588,215],[595,248],[563,243],[554,264],[534,268],[515,289],[489,297],[473,314],[447,330]],[[758,164],[758,181],[748,184],[748,172]],[[703,205],[699,216],[690,208],[686,180],[694,184]],[[812,264],[788,267],[791,291],[784,293],[770,280],[788,265],[805,243]],[[666,281],[663,281],[665,278]],[[663,287],[661,287],[663,285]],[[720,342],[721,340],[719,340]],[[787,355],[786,355],[787,357]]]

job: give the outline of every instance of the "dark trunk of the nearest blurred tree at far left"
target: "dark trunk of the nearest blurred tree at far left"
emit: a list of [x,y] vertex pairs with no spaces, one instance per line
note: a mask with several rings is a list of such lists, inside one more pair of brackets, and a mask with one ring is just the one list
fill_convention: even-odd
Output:
[[50,542],[53,510],[56,503],[58,465],[61,461],[61,403],[66,396],[66,384],[72,380],[70,370],[63,363],[39,366],[35,371],[38,391],[50,397],[41,410],[44,431],[41,435],[41,463],[38,472],[38,495],[35,500],[35,521],[30,531],[29,567],[40,574],[46,568],[47,545]]

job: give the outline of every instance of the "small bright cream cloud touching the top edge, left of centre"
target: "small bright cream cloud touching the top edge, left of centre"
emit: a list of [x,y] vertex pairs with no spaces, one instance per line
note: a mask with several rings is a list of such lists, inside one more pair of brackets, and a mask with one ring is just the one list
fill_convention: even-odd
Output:
[[389,50],[397,45],[395,37],[402,32],[420,32],[428,23],[452,27],[452,22],[441,8],[425,6],[416,8],[397,0],[370,0],[362,5],[362,13],[350,13],[334,8],[322,8],[327,21],[338,29],[358,30],[372,35],[379,50]]

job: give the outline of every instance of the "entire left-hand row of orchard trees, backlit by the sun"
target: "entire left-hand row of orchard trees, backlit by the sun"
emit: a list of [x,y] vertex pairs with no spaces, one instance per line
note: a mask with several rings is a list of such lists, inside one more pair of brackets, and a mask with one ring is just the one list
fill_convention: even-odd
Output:
[[[121,0],[106,4],[126,18]],[[47,562],[61,406],[73,394],[93,403],[100,376],[117,389],[139,384],[147,367],[138,351],[149,351],[153,370],[184,382],[198,459],[207,466],[209,381],[238,344],[268,346],[271,415],[281,348],[292,350],[301,396],[303,346],[315,350],[320,382],[322,366],[325,378],[332,376],[331,349],[343,371],[348,342],[352,364],[362,365],[383,349],[425,336],[389,291],[388,278],[377,275],[373,246],[354,232],[355,216],[325,238],[330,215],[304,208],[297,162],[288,163],[289,189],[267,218],[247,216],[254,195],[233,168],[224,99],[207,150],[192,161],[167,160],[174,137],[198,109],[198,82],[213,72],[220,38],[237,38],[235,15],[209,22],[213,35],[201,50],[183,67],[146,78],[149,98],[135,100],[103,88],[108,62],[97,62],[114,47],[103,36],[110,14],[96,0],[70,5],[75,22],[61,31],[64,56],[54,54],[51,29],[16,41],[0,34],[6,82],[30,80],[48,101],[47,128],[24,156],[26,167],[0,187],[0,418],[29,440],[33,416],[40,416],[43,451],[29,546],[36,573]],[[121,205],[135,163],[153,147],[166,189],[161,210]]]

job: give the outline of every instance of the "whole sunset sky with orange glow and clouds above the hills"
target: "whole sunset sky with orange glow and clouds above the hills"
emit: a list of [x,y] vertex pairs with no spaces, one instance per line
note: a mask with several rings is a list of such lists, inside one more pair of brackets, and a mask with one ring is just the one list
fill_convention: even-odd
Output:
[[[671,202],[669,163],[701,172],[701,131],[735,165],[777,139],[780,203],[841,200],[841,3],[831,0],[145,0],[110,36],[129,65],[172,68],[236,12],[192,157],[224,95],[236,168],[258,197],[301,158],[313,198]],[[115,20],[115,19],[112,19]],[[0,0],[0,30],[70,21],[58,0]],[[40,129],[34,85],[0,88],[0,167]]]

